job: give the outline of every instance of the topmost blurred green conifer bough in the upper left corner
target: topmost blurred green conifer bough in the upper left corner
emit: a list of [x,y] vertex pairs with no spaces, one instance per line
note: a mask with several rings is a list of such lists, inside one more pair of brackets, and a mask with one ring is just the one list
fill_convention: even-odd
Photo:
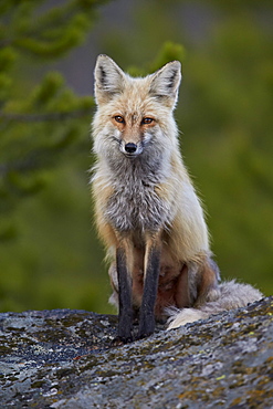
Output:
[[[7,32],[3,43],[43,59],[60,57],[80,44],[94,20],[94,3],[72,0],[48,12],[40,12],[44,1],[24,0],[2,7]],[[102,1],[101,1],[102,3]]]

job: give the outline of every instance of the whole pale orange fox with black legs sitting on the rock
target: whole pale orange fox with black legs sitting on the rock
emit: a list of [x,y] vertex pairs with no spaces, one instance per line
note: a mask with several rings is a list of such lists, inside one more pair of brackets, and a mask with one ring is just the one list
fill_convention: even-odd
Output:
[[101,54],[94,77],[92,189],[118,310],[116,344],[151,335],[156,322],[172,329],[262,298],[249,284],[220,281],[179,148],[181,63],[132,77]]

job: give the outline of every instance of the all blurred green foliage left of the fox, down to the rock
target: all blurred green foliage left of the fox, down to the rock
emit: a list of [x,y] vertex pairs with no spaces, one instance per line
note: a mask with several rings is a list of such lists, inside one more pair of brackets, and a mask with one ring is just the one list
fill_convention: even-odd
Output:
[[[92,269],[87,258],[82,264],[94,241],[86,175],[94,101],[72,92],[59,72],[48,72],[40,82],[31,75],[34,66],[39,72],[42,62],[83,42],[103,2],[74,0],[52,8],[38,0],[0,3],[0,311],[87,307],[87,294],[92,305],[97,292],[90,276],[88,285],[77,281],[80,269]],[[77,165],[82,153],[84,169]],[[81,172],[84,187],[75,176]],[[86,191],[84,209],[73,200],[77,186]],[[53,208],[60,192],[62,206]],[[86,214],[84,229],[78,209]],[[73,240],[65,242],[61,232]]]

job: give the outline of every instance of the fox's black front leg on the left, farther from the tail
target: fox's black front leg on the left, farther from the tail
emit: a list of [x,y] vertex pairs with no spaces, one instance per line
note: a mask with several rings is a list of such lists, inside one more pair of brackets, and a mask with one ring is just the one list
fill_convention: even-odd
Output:
[[123,248],[117,249],[116,264],[118,275],[118,329],[115,344],[132,342],[133,307],[132,307],[132,279],[127,269],[126,252]]

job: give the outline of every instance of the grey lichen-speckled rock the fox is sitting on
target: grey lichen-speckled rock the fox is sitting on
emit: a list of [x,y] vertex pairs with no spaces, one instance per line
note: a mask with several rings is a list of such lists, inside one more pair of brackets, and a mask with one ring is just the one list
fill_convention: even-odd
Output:
[[116,324],[85,311],[0,314],[0,407],[273,407],[273,297],[120,347]]

